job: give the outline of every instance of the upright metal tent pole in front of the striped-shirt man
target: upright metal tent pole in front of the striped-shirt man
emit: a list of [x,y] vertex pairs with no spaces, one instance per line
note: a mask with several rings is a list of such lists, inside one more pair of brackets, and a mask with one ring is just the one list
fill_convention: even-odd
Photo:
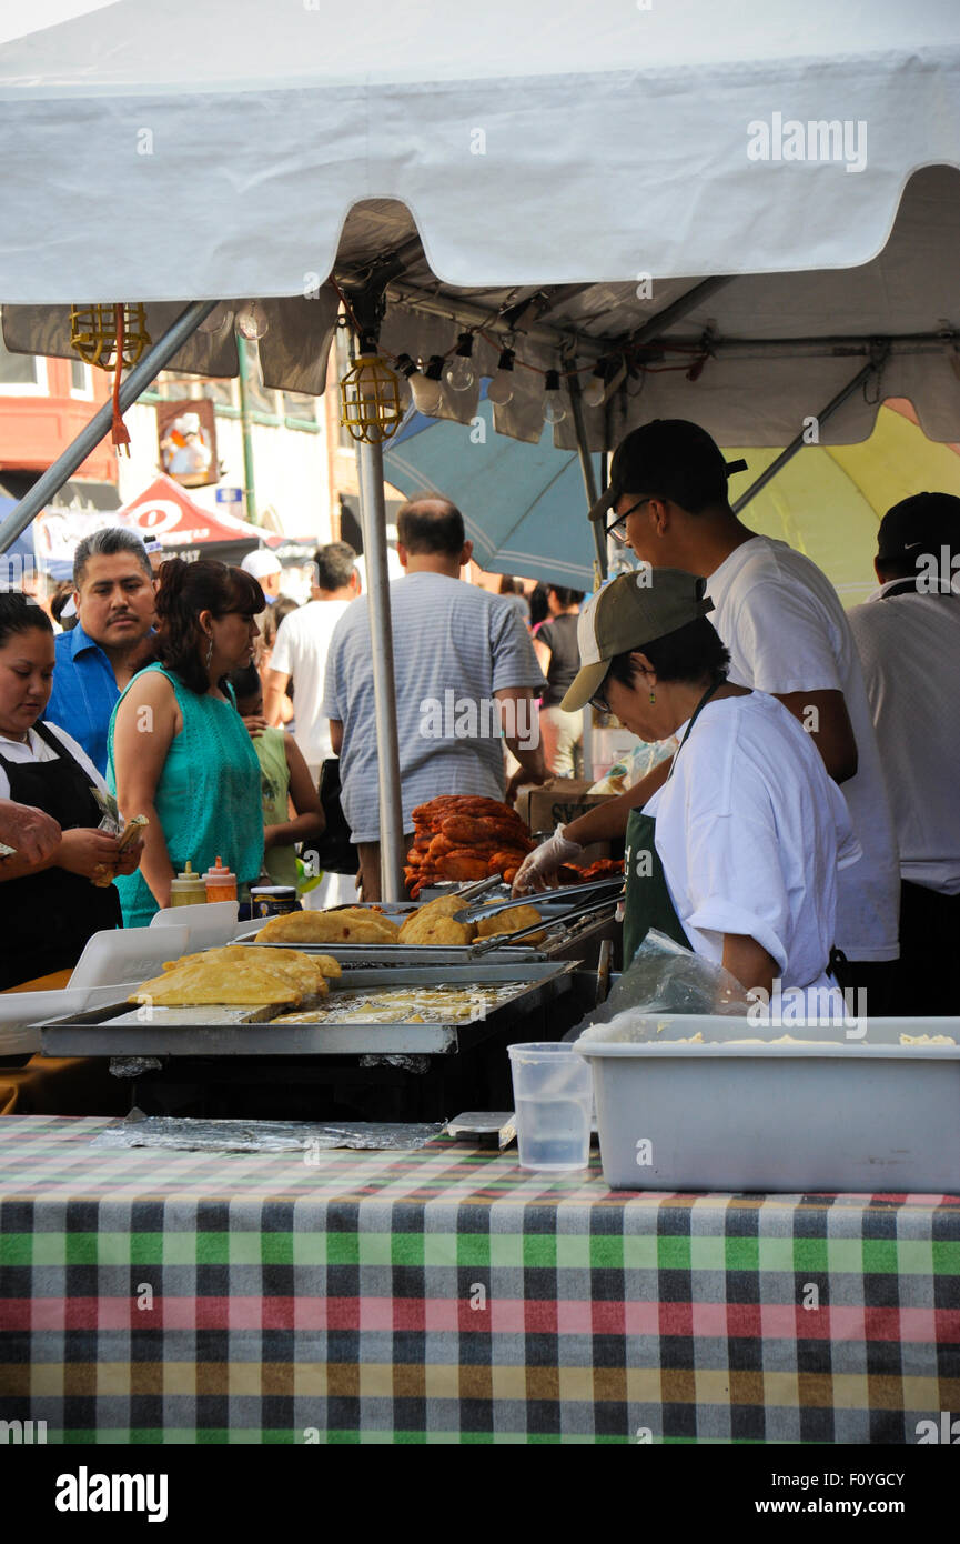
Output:
[[380,899],[403,900],[403,800],[400,792],[400,743],[397,738],[397,687],[394,681],[394,628],[387,568],[386,502],[383,496],[383,446],[357,445],[363,554],[370,591],[370,648],[374,656],[374,703],[377,723],[377,775],[380,784]]

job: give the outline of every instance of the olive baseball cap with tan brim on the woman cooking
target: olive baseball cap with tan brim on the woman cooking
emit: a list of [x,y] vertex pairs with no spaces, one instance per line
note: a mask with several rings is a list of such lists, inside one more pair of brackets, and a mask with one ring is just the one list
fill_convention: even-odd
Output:
[[705,588],[705,579],[682,568],[641,568],[603,585],[577,619],[580,670],[560,703],[563,712],[586,707],[614,655],[642,648],[712,611]]

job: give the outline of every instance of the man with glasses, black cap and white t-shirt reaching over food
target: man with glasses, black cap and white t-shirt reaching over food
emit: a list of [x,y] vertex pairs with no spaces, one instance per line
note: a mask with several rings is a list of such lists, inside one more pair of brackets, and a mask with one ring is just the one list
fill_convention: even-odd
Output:
[[[812,735],[833,781],[844,784],[864,855],[838,883],[837,945],[847,960],[841,985],[866,987],[870,1011],[881,1013],[889,962],[898,956],[900,872],[860,659],[826,574],[733,514],[727,477],[742,468],[727,466],[699,425],[656,418],[617,446],[591,519],[605,519],[607,531],[642,564],[707,579],[713,624],[732,656],[730,681],[778,696]],[[573,843],[622,834],[630,809],[641,809],[667,772],[668,763],[661,763],[619,800],[559,831],[542,857],[542,849],[529,855],[517,885],[537,883],[574,857]]]

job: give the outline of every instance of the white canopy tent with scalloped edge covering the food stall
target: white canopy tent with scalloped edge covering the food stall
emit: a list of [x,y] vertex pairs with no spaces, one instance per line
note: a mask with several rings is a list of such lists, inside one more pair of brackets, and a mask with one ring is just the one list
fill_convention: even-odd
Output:
[[[495,428],[515,438],[539,438],[554,367],[574,409],[556,442],[583,455],[657,415],[727,443],[804,426],[850,443],[884,395],[911,398],[931,438],[960,438],[952,0],[722,15],[705,0],[488,0],[482,15],[374,0],[361,34],[332,0],[236,0],[227,19],[117,0],[0,48],[0,142],[14,350],[68,354],[71,301],[147,301],[156,338],[185,303],[258,298],[265,383],[319,392],[333,275],[367,317],[380,295],[386,352],[426,361],[469,327],[489,375],[509,341],[515,392]],[[228,321],[201,335],[201,315],[128,397],[167,363],[236,372]],[[600,358],[628,374],[582,408]],[[440,409],[474,411],[475,388]],[[375,451],[361,472],[374,554]],[[25,500],[0,548],[31,514]],[[375,560],[372,579],[386,703]]]

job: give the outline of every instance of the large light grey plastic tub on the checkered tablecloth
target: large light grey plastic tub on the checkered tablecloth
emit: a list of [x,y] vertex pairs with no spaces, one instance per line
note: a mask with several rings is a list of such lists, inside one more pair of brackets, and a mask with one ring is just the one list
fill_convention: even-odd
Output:
[[[745,1019],[651,1028],[656,1044],[577,1042],[613,1190],[960,1194],[960,1045],[900,1045],[960,1039],[957,1019],[870,1019],[866,1041],[766,1031],[829,1045],[724,1044],[758,1034]],[[671,1044],[698,1031],[707,1044]]]

